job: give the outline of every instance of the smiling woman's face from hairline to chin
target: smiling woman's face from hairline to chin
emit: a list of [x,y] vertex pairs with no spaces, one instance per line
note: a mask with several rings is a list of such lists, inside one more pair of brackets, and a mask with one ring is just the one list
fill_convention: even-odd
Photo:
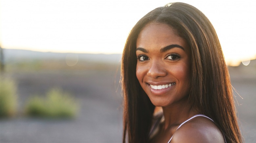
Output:
[[166,24],[147,24],[139,33],[136,75],[156,106],[186,103],[190,91],[190,49]]

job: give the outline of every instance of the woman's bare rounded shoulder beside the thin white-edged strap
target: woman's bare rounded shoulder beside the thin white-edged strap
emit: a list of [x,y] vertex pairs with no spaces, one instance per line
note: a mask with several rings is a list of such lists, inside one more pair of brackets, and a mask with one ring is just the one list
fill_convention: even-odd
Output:
[[221,130],[205,117],[196,117],[183,124],[174,134],[171,143],[175,142],[225,142]]

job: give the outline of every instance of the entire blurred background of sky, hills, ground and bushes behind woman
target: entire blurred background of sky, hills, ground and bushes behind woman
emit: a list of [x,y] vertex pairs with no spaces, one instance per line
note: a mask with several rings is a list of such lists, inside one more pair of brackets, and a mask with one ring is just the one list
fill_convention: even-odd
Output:
[[[169,0],[1,0],[0,142],[121,142],[120,59]],[[245,142],[256,142],[256,2],[180,0],[221,41]]]

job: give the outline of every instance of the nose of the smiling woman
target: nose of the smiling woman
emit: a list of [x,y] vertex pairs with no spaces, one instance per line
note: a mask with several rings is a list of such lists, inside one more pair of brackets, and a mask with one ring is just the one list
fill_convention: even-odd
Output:
[[154,61],[151,63],[147,75],[152,78],[164,77],[167,75],[166,67],[164,64],[158,61]]

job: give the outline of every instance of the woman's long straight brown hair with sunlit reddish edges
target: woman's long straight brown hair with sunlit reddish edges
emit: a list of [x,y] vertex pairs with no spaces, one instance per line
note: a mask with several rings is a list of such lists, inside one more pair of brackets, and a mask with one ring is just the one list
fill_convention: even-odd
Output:
[[[233,100],[232,86],[222,48],[214,27],[197,8],[170,3],[142,17],[127,38],[121,66],[124,94],[123,142],[148,142],[155,106],[136,77],[136,41],[148,23],[168,24],[191,48],[191,92],[189,102],[199,113],[212,118],[227,142],[243,142]],[[128,135],[128,136],[126,136]]]

